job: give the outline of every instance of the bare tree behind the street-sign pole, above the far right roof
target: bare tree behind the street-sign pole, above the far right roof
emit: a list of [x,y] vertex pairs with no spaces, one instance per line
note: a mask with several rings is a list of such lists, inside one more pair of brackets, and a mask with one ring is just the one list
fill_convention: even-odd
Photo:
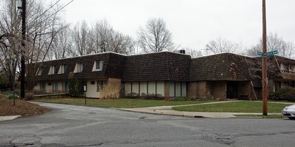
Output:
[[[270,33],[267,37],[268,51],[278,51],[283,57],[295,58],[295,46],[293,42],[285,42],[283,38],[279,38],[277,34]],[[257,56],[257,51],[262,51],[262,40],[251,49],[248,49],[247,55]]]

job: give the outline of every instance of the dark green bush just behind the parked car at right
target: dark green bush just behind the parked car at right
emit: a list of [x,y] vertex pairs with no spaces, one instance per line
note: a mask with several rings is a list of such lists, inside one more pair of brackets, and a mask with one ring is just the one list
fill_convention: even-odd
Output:
[[295,88],[281,88],[270,92],[270,99],[275,101],[295,101]]

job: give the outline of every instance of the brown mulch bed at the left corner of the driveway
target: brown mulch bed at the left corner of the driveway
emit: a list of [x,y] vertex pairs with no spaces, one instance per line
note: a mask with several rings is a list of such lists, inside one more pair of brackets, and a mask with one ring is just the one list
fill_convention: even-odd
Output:
[[28,103],[19,99],[0,99],[0,116],[34,116],[49,112],[50,109],[39,105]]

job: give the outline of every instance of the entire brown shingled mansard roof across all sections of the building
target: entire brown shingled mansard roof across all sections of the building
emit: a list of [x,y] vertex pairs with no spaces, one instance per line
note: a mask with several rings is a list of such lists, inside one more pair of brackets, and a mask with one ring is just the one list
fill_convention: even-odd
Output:
[[[295,65],[294,59],[273,56],[277,62]],[[78,79],[118,78],[128,81],[252,81],[255,87],[261,87],[261,80],[253,76],[250,62],[258,57],[248,57],[233,53],[219,53],[191,59],[190,55],[158,52],[142,55],[120,55],[118,53],[98,53],[80,57],[56,59],[43,63],[43,74],[36,81]],[[101,71],[93,71],[95,61],[103,60]],[[83,63],[83,72],[73,72],[75,64]],[[64,74],[58,74],[60,65],[67,65]],[[48,75],[51,66],[56,73]],[[279,72],[279,66],[277,66]],[[253,75],[251,75],[253,74]],[[257,74],[257,73],[256,73]],[[293,77],[292,77],[293,76]],[[294,74],[281,73],[283,79],[295,79]]]

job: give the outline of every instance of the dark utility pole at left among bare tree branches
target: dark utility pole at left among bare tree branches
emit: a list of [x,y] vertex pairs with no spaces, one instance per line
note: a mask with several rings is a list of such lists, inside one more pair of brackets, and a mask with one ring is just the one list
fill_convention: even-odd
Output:
[[22,35],[22,41],[21,41],[21,99],[25,98],[25,14],[26,14],[26,1],[21,0],[21,7],[18,7],[21,9],[21,35]]

